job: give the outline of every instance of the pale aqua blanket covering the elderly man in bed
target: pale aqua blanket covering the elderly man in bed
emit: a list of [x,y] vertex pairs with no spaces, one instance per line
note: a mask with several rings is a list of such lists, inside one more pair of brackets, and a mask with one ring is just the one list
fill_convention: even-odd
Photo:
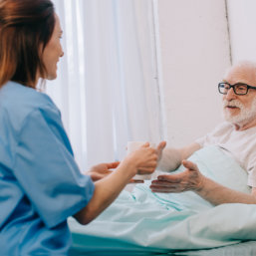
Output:
[[[230,188],[250,193],[247,173],[215,146],[196,151],[190,160],[201,172]],[[183,166],[177,171],[182,171]],[[88,226],[69,220],[73,247],[91,250],[201,249],[256,239],[256,205],[213,207],[193,192],[152,193],[138,184],[124,191]]]

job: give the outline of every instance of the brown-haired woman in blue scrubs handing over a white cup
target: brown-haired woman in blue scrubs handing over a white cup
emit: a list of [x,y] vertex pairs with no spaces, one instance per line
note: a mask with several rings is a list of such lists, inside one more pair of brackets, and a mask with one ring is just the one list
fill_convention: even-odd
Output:
[[[40,79],[57,77],[61,36],[50,0],[0,1],[2,255],[66,254],[67,218],[92,221],[134,174],[155,169],[165,145],[155,150],[145,143],[121,163],[102,163],[81,174],[59,110],[36,89]],[[111,168],[116,170],[109,174]]]

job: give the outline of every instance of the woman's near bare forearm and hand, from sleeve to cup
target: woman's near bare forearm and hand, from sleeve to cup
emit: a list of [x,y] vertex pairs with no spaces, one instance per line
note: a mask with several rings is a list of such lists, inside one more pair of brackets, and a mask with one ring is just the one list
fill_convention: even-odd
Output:
[[[88,224],[117,198],[135,174],[150,174],[157,165],[156,149],[144,143],[119,164],[112,174],[95,182],[94,195],[89,203],[75,214],[81,224]],[[101,166],[102,167],[102,166]]]

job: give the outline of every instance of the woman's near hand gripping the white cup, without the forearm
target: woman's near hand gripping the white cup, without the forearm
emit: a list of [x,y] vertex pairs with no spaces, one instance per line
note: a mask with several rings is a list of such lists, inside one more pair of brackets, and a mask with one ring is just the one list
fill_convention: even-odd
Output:
[[145,142],[138,149],[128,153],[122,163],[135,168],[134,174],[151,174],[157,165],[157,151]]

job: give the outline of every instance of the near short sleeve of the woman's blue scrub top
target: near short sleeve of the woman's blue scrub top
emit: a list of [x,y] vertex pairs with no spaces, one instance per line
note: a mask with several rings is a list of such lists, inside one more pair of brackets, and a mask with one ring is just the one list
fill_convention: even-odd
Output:
[[90,201],[94,183],[74,160],[60,112],[46,106],[32,111],[17,137],[13,171],[48,228],[77,213]]

